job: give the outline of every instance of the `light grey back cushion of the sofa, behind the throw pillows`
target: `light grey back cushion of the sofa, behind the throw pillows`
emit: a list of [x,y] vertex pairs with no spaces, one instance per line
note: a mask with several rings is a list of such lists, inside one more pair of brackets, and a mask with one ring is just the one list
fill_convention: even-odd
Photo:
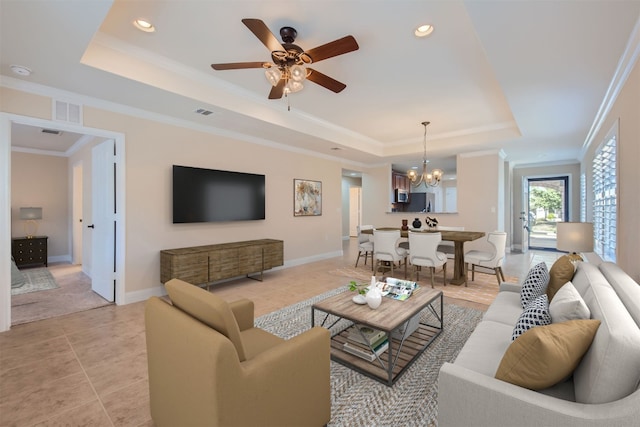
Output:
[[607,403],[628,396],[640,384],[640,329],[597,266],[578,263],[573,283],[584,289],[591,317],[602,322],[573,374],[576,401]]

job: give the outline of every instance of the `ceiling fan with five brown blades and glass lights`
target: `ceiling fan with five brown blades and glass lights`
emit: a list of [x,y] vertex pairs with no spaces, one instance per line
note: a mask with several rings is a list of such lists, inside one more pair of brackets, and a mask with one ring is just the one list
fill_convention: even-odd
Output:
[[302,89],[306,79],[335,93],[341,92],[347,85],[309,67],[310,64],[333,58],[334,56],[358,50],[353,36],[345,36],[310,50],[295,45],[298,32],[292,27],[282,27],[281,44],[266,24],[260,19],[243,19],[242,23],[271,51],[272,62],[233,62],[211,64],[214,70],[237,70],[242,68],[264,68],[267,80],[273,86],[269,99],[280,99],[282,95]]

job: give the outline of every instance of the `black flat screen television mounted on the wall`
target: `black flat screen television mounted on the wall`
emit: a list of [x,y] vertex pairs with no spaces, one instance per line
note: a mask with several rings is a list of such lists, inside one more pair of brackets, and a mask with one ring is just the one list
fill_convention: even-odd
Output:
[[265,177],[173,165],[173,223],[265,219]]

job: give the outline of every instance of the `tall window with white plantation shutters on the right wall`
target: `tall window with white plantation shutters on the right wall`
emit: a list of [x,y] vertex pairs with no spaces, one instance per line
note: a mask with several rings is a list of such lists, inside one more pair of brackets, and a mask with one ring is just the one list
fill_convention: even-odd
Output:
[[616,136],[598,148],[593,159],[594,251],[605,261],[616,261]]

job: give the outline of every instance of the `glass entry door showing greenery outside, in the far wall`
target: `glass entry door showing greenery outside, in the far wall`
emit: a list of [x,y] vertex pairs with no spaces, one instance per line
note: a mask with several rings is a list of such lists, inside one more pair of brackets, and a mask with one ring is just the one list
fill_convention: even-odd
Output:
[[569,177],[528,178],[529,248],[556,249],[558,222],[569,220]]

